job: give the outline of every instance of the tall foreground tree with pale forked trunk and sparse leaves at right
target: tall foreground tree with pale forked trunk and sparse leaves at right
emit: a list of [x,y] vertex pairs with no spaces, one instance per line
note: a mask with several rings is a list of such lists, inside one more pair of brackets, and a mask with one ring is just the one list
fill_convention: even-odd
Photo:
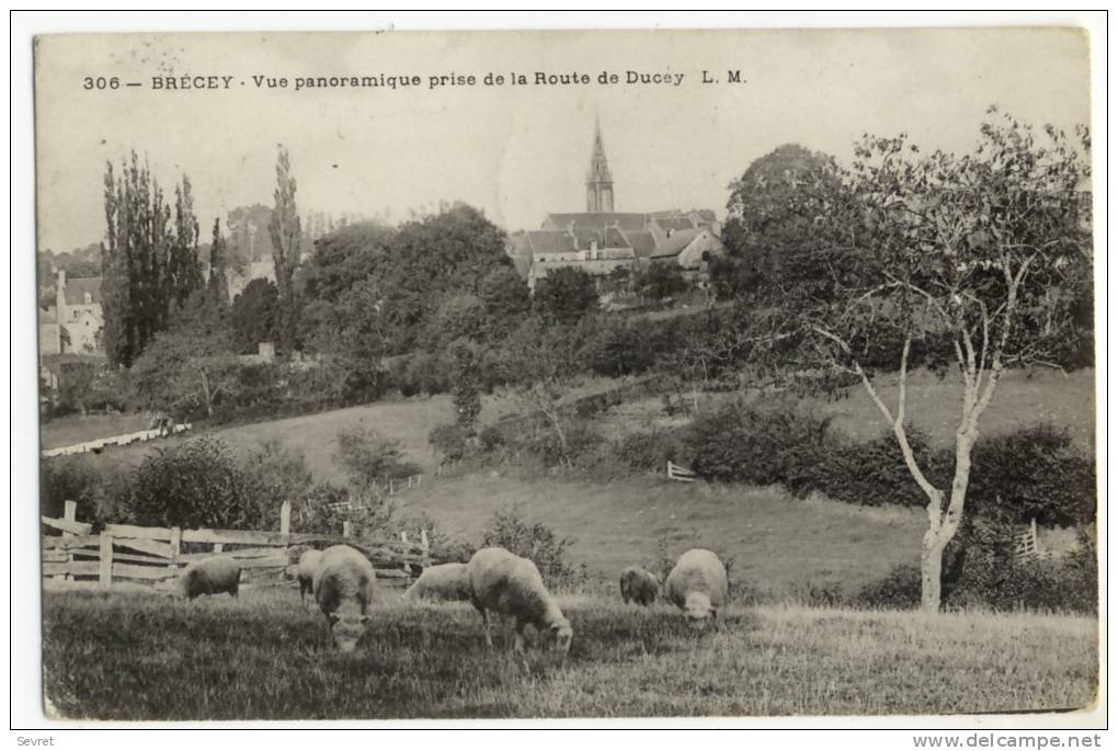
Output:
[[[941,599],[944,550],[964,521],[972,453],[1006,368],[1045,361],[1071,327],[1068,303],[1049,294],[1091,253],[1078,222],[1088,174],[1087,129],[1073,139],[991,108],[973,154],[923,156],[904,136],[865,137],[821,234],[816,278],[788,304],[824,360],[861,380],[927,497],[921,603]],[[836,191],[837,192],[837,191]],[[898,341],[897,398],[887,403],[864,361],[882,338]],[[960,381],[955,466],[947,487],[909,440],[907,378],[923,361]]]

